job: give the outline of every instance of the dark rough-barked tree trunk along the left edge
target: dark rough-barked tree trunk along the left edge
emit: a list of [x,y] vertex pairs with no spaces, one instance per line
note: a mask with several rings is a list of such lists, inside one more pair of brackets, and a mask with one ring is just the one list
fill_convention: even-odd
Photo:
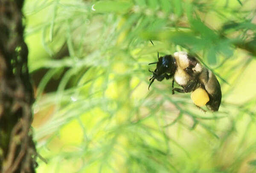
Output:
[[0,0],[0,173],[35,173],[34,94],[23,39],[24,0]]

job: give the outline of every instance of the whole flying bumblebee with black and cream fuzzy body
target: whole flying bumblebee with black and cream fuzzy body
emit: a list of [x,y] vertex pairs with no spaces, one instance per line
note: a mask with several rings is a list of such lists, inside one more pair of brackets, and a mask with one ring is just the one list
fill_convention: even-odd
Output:
[[[211,70],[201,65],[197,59],[187,52],[175,52],[174,55],[165,55],[159,58],[157,68],[149,79],[151,84],[156,79],[163,81],[164,78],[172,78],[172,94],[176,92],[192,92],[191,98],[198,107],[204,105],[213,112],[218,111],[221,104],[221,86]],[[154,64],[154,63],[149,63]],[[182,88],[174,88],[174,81]]]

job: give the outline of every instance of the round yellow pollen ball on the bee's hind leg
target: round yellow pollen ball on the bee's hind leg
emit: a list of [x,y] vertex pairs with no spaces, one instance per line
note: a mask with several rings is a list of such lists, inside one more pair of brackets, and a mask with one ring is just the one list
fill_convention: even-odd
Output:
[[194,104],[199,107],[204,106],[210,100],[209,95],[202,88],[195,89],[195,91],[191,93],[191,99]]

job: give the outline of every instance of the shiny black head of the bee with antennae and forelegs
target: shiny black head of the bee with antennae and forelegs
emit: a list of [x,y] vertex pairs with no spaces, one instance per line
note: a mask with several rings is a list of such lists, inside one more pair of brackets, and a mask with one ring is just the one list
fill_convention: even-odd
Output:
[[[158,62],[155,62],[155,63],[157,64],[157,68],[154,70],[154,72],[148,69],[150,72],[153,73],[153,76],[149,79],[150,81],[149,86],[154,82],[155,79],[157,81],[162,81],[164,78],[166,78],[166,76],[168,76],[168,78],[170,76],[172,77],[175,73],[175,70],[177,69],[175,58],[172,57],[172,55],[165,55],[160,58],[158,56]],[[154,63],[149,63],[149,64],[154,64]],[[149,89],[149,86],[148,86],[148,89]]]

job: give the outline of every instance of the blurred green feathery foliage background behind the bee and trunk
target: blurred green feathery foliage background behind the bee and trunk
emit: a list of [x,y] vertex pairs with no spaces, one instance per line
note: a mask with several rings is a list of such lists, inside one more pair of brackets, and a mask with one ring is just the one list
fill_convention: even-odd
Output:
[[[26,0],[38,173],[256,173],[255,0]],[[154,46],[149,40],[153,40]],[[202,112],[148,63],[196,53]],[[205,108],[206,109],[206,108]]]

